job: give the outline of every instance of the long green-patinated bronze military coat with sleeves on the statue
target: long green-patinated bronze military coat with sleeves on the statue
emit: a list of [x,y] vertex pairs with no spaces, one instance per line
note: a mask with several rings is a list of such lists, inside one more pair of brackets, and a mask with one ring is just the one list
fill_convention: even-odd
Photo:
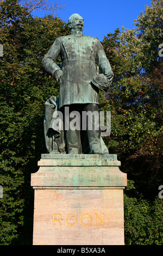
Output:
[[73,103],[99,104],[98,89],[91,84],[97,74],[96,62],[104,75],[111,71],[109,60],[98,39],[91,36],[66,35],[57,38],[42,60],[46,72],[53,76],[59,68],[55,60],[60,55],[59,107]]

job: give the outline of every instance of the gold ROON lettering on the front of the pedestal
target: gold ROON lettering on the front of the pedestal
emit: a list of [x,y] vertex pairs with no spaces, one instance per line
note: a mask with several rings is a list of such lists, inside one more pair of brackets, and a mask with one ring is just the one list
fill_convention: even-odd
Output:
[[[55,225],[56,222],[59,225],[62,225],[61,221],[63,221],[61,214],[53,214],[53,225]],[[78,218],[74,214],[67,214],[65,217],[65,222],[67,225],[74,225],[77,223],[77,221]],[[92,222],[92,216],[90,214],[82,214],[79,218],[79,221],[82,223],[82,225],[89,225]],[[104,214],[102,214],[102,220],[97,214],[95,214],[95,225],[97,225],[97,222],[104,225]]]

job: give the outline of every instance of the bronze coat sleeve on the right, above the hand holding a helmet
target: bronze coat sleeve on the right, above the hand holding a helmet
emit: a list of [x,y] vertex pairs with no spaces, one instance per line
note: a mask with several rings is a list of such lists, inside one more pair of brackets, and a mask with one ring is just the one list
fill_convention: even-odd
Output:
[[96,61],[99,66],[99,70],[104,75],[109,75],[112,71],[109,60],[106,57],[104,48],[99,40],[97,40],[97,52],[96,52]]

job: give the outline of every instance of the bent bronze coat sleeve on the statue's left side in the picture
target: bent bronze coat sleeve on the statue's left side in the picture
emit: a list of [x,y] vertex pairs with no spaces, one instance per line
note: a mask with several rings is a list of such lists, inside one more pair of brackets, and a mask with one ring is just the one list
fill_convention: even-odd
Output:
[[56,70],[60,69],[59,66],[55,63],[59,54],[60,54],[60,40],[56,39],[52,47],[49,49],[48,53],[45,55],[45,57],[42,59],[42,62],[41,62],[43,69],[51,76],[53,76]]

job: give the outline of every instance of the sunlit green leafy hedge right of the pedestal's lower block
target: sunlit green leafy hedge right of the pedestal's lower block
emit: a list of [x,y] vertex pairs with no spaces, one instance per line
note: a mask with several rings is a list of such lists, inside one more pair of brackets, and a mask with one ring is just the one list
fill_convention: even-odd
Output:
[[[129,182],[130,183],[130,182]],[[133,184],[130,185],[131,190]],[[156,197],[149,202],[124,194],[124,231],[126,245],[162,245],[163,201]]]

